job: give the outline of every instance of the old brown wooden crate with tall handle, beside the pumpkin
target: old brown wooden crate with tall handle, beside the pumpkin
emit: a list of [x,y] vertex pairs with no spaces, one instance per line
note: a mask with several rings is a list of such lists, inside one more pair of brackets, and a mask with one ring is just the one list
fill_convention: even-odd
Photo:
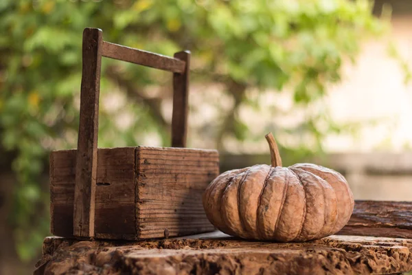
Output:
[[[99,148],[102,56],[173,72],[172,146]],[[214,230],[201,196],[219,173],[216,150],[185,147],[190,52],[174,58],[83,32],[77,150],[50,155],[51,231],[56,236],[143,239]]]

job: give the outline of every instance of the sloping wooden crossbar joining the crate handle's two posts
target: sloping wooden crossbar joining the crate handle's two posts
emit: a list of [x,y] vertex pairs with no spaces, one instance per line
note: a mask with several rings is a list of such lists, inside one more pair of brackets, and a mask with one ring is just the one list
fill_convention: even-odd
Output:
[[117,45],[106,41],[103,42],[102,55],[119,61],[126,61],[155,69],[163,69],[164,71],[174,73],[183,73],[186,67],[183,61],[176,58],[137,50],[132,47]]

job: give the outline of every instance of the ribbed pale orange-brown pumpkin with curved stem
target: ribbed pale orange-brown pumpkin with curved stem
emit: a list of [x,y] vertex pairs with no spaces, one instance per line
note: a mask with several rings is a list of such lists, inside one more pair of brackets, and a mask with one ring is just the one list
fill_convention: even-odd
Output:
[[282,167],[273,135],[266,140],[271,166],[229,170],[206,188],[209,221],[243,239],[309,241],[339,232],[354,209],[345,177],[315,164]]

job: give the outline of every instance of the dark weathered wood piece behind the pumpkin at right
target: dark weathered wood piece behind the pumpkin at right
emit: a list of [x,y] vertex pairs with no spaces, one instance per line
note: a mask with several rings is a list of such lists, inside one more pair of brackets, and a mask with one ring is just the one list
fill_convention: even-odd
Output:
[[338,234],[412,239],[412,201],[355,201],[350,221]]

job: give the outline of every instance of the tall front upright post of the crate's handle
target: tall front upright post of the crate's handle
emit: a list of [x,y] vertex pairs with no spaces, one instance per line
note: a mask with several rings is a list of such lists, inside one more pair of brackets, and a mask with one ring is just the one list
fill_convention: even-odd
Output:
[[73,234],[75,236],[87,237],[94,234],[102,45],[102,30],[84,29],[79,153],[76,160],[73,207]]

